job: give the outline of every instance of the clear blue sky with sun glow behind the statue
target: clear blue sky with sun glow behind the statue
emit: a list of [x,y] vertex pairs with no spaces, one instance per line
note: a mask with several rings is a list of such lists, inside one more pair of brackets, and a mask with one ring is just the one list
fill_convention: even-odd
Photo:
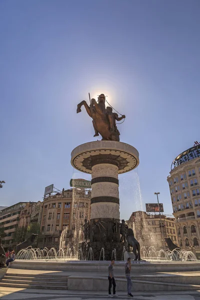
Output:
[[200,141],[199,14],[199,0],[1,0],[0,205],[84,177],[70,152],[95,140],[76,114],[89,91],[126,115],[121,141],[139,151],[119,178],[121,217],[139,208],[137,174],[142,202],[159,191],[171,213],[171,161]]

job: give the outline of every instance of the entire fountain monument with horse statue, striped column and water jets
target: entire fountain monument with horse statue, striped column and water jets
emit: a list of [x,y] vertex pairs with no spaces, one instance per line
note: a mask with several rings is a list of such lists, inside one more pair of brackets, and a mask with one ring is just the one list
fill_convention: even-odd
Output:
[[[122,262],[124,262],[125,252],[127,252],[126,240],[120,241],[118,175],[136,168],[139,164],[139,154],[133,146],[119,141],[119,131],[115,124],[116,115],[113,115],[110,109],[106,110],[104,95],[101,94],[99,96],[98,102],[91,99],[90,105],[82,101],[77,106],[77,112],[80,112],[81,105],[85,106],[87,113],[93,119],[95,136],[100,133],[103,137],[101,141],[92,141],[78,145],[71,152],[72,166],[81,172],[91,174],[92,177],[89,220],[86,220],[85,224],[83,224],[80,217],[74,217],[75,226],[72,229],[74,242],[72,246],[69,247],[65,243],[67,229],[64,229],[60,236],[58,251],[54,248],[39,249],[27,247],[16,254],[16,260],[11,263],[11,266],[13,264],[14,268],[77,271],[76,276],[69,275],[67,278],[69,289],[84,289],[88,285],[91,289],[95,289],[98,286],[100,290],[106,290],[107,278],[105,273],[107,274],[108,260],[111,258],[117,260],[115,263],[116,272],[124,272],[124,263]],[[141,207],[141,192],[137,173],[136,185],[139,197],[135,201],[138,201],[138,207]],[[79,200],[75,188],[73,189],[72,205],[77,208],[75,213],[78,216]],[[159,284],[162,285],[162,282],[154,281],[156,284],[152,284],[152,280],[157,280],[156,278],[153,279],[158,275],[155,272],[199,271],[200,263],[192,251],[180,249],[173,249],[172,251],[156,250],[153,245],[145,246],[147,243],[148,240],[144,239],[143,245],[140,247],[140,254],[143,260],[132,261],[134,263],[132,272],[136,274],[137,282],[134,284],[134,288],[138,287],[139,290],[156,290],[156,287]],[[89,275],[80,277],[79,271],[82,270],[84,270],[84,273],[89,272]],[[96,275],[95,278],[92,278],[93,286],[91,284],[91,270],[95,274],[98,273],[98,270],[105,272],[104,277],[100,277],[100,275],[97,277]],[[147,277],[144,280],[141,279],[143,271],[146,273],[152,272],[149,275],[149,279]],[[159,276],[161,277],[160,274]],[[99,277],[101,280],[99,280]],[[174,289],[182,289],[182,276],[178,277],[176,273],[176,279],[179,280],[180,286],[178,287],[178,283],[175,283]],[[117,280],[125,279],[118,277]],[[120,283],[121,290],[125,290],[126,282],[121,281]],[[171,288],[173,278],[171,282],[164,282],[161,287],[162,290],[167,290],[167,284]],[[185,288],[189,289],[190,286]]]

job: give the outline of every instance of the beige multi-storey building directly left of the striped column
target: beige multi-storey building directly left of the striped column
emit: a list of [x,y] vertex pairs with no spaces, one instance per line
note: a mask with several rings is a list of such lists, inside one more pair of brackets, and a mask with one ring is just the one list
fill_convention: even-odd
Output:
[[42,236],[38,240],[38,247],[55,247],[58,250],[60,235],[65,228],[65,246],[70,246],[74,240],[81,241],[84,219],[89,219],[90,197],[90,191],[76,188],[45,197],[40,223]]

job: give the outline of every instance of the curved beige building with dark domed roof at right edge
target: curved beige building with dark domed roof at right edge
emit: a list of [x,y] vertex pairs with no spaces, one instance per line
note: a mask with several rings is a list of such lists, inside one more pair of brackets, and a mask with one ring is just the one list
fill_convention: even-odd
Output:
[[200,258],[200,144],[180,153],[171,164],[169,184],[178,245]]

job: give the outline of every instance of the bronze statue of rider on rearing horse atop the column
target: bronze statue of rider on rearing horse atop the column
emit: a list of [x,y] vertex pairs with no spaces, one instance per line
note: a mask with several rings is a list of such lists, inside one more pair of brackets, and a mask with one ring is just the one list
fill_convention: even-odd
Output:
[[119,131],[116,127],[116,120],[120,121],[125,118],[125,115],[118,117],[118,114],[112,112],[112,107],[107,106],[105,108],[105,95],[100,94],[98,101],[91,99],[90,105],[85,100],[77,104],[76,112],[81,111],[81,106],[84,105],[87,114],[92,118],[92,124],[94,128],[94,136],[98,136],[99,133],[102,136],[102,140],[116,140],[119,141]]

